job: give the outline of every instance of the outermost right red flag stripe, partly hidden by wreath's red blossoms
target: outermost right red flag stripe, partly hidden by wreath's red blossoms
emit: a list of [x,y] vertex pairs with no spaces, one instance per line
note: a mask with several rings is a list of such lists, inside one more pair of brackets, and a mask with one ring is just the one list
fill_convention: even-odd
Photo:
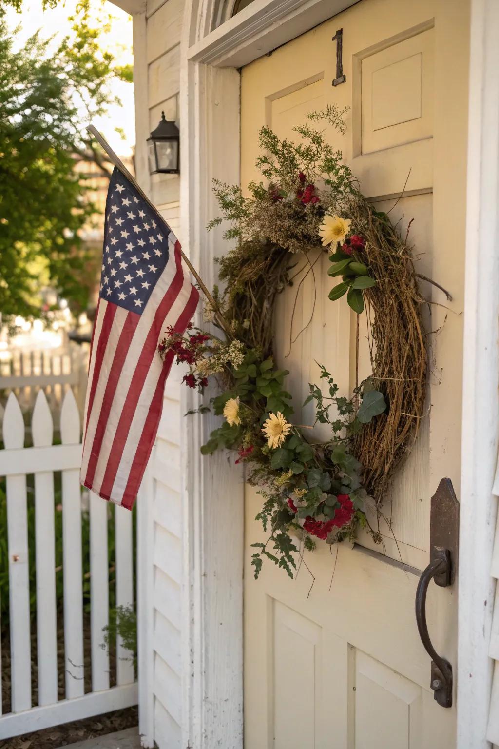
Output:
[[[198,306],[199,294],[194,286],[191,287],[191,296],[186,304],[185,309],[177,320],[177,324],[174,325],[174,333],[183,334],[186,330],[189,320],[192,318]],[[144,423],[142,430],[141,439],[138,443],[135,457],[133,458],[132,467],[130,469],[128,482],[126,484],[125,491],[123,493],[123,500],[121,504],[126,509],[132,509],[135,499],[137,497],[138,488],[141,485],[142,476],[144,476],[144,470],[149,460],[151,450],[153,449],[154,440],[159,426],[159,419],[161,419],[162,406],[163,406],[163,395],[165,392],[165,381],[168,377],[171,369],[171,363],[174,359],[174,352],[168,351],[165,357],[165,366],[162,369],[161,377],[159,377],[156,391],[153,395],[149,407],[149,413]]]

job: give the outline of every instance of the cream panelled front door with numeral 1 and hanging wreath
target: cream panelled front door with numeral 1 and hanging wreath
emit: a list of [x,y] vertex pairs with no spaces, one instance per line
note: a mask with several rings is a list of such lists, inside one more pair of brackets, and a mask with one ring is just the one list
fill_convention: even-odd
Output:
[[[343,73],[336,78],[337,29]],[[429,685],[430,658],[417,634],[418,570],[429,560],[429,500],[443,476],[459,497],[462,401],[462,300],[468,100],[466,0],[361,0],[312,31],[242,69],[242,185],[259,178],[257,131],[267,124],[296,139],[293,127],[328,103],[348,106],[347,133],[331,142],[364,195],[391,212],[410,236],[417,272],[449,289],[453,301],[422,285],[432,347],[428,409],[417,442],[394,481],[382,522],[384,547],[359,537],[354,548],[319,544],[295,580],[272,562],[255,581],[251,542],[265,540],[254,517],[260,497],[245,492],[245,749],[452,749],[456,708],[444,709]],[[345,394],[355,377],[355,318],[345,297],[331,303],[328,259],[315,266],[313,321],[291,348],[297,283],[277,312],[279,366],[292,370],[297,405],[323,363]],[[296,279],[298,281],[299,279]],[[313,309],[311,274],[299,288],[293,338]],[[368,374],[365,329],[361,374]],[[364,350],[363,350],[364,347]],[[320,435],[320,432],[319,432]],[[383,555],[385,552],[385,555]],[[403,560],[404,564],[402,564]],[[456,586],[428,597],[433,643],[456,673]],[[455,700],[454,700],[455,704]]]

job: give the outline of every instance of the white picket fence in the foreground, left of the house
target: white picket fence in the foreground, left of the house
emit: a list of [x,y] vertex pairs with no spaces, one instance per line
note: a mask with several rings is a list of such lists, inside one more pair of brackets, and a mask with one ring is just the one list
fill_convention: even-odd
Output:
[[[43,390],[31,419],[32,447],[25,447],[25,424],[16,396],[4,412],[0,476],[6,477],[9,567],[11,712],[1,710],[0,739],[87,718],[137,704],[129,652],[117,642],[116,686],[109,687],[108,652],[102,628],[108,624],[108,503],[90,496],[91,688],[84,686],[82,598],[82,456],[79,409],[73,392],[64,395],[61,443],[54,445],[53,422]],[[64,575],[64,682],[58,698],[58,631],[55,589],[54,472],[61,471]],[[31,694],[30,590],[28,577],[27,476],[34,474],[37,613],[37,706]],[[133,603],[132,513],[114,507],[116,602]],[[0,591],[1,595],[1,591]],[[119,639],[119,638],[118,638]]]

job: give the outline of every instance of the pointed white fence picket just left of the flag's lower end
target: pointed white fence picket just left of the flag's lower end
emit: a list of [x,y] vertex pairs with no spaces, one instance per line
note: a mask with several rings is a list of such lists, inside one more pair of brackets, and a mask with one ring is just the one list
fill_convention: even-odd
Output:
[[[78,407],[68,390],[61,409],[63,445],[80,441]],[[82,697],[83,682],[83,586],[82,586],[82,503],[79,469],[62,471],[62,524],[64,564],[64,661],[66,697]]]

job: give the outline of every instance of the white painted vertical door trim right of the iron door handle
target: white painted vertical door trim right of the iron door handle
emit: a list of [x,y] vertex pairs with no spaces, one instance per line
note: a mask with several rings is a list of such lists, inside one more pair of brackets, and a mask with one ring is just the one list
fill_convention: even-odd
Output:
[[[465,255],[457,749],[485,749],[499,424],[499,47],[496,0],[471,0]],[[484,270],[486,269],[486,272]],[[492,706],[497,712],[499,707]],[[497,725],[497,718],[496,718]]]

